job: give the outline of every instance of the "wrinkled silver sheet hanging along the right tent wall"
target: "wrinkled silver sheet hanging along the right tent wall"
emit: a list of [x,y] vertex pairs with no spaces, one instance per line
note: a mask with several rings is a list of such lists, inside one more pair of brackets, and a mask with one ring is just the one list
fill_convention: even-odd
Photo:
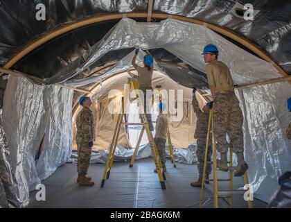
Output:
[[245,119],[249,182],[255,197],[269,203],[279,187],[279,177],[291,168],[291,141],[285,137],[291,121],[286,107],[291,87],[275,83],[246,88],[237,95]]

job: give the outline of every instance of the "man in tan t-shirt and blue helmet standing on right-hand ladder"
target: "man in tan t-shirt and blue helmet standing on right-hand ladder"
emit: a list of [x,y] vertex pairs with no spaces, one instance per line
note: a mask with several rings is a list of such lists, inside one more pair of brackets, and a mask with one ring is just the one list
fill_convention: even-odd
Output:
[[243,114],[234,93],[229,68],[218,61],[218,48],[213,44],[206,45],[202,55],[204,62],[208,63],[205,69],[213,97],[213,133],[220,151],[218,167],[222,171],[228,171],[226,138],[228,134],[233,152],[238,157],[238,167],[234,176],[243,176],[248,169],[243,155]]

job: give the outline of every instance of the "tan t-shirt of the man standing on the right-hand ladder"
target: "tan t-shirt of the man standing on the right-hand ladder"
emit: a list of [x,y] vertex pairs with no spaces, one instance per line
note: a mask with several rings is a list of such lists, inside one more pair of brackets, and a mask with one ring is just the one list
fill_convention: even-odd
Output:
[[215,93],[233,91],[233,80],[227,65],[215,60],[209,62],[205,69],[209,85],[215,86]]

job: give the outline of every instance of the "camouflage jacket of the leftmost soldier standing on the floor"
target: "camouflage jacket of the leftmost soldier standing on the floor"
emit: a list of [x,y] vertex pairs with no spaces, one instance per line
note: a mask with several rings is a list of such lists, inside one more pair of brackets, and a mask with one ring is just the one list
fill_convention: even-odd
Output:
[[76,142],[91,142],[95,139],[94,117],[88,108],[82,108],[76,118],[77,135]]

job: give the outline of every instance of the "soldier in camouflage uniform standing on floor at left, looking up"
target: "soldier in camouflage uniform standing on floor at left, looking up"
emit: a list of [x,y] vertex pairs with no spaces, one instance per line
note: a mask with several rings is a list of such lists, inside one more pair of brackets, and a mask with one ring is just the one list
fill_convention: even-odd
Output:
[[91,99],[87,96],[82,96],[79,99],[82,110],[76,118],[77,135],[76,142],[78,146],[78,179],[80,186],[93,186],[94,182],[91,178],[86,177],[91,157],[91,150],[94,141],[94,117],[92,111],[89,110]]

